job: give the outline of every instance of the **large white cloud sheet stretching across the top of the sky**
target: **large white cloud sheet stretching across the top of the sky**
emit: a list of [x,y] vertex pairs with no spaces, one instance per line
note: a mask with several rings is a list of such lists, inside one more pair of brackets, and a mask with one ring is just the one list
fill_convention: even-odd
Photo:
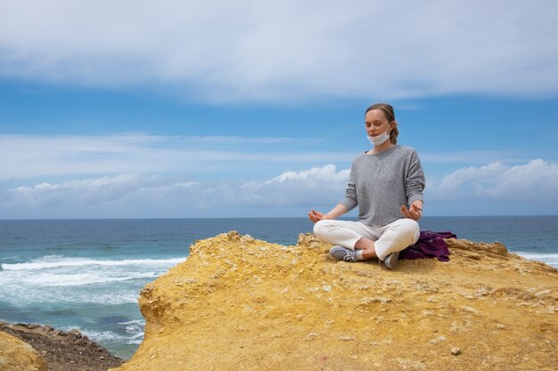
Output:
[[557,18],[552,0],[6,0],[0,76],[221,102],[554,95]]

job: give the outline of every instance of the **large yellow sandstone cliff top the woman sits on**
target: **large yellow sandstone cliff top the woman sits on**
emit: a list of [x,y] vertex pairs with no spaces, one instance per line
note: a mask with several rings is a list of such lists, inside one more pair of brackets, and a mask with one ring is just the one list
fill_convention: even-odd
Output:
[[335,262],[312,235],[198,241],[144,287],[131,370],[555,370],[558,271],[501,244],[450,262]]

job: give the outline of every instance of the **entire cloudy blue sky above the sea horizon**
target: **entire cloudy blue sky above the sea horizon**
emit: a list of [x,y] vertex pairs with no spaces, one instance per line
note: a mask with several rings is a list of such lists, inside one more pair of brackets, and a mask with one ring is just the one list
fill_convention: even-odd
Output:
[[558,214],[556,19],[553,0],[0,0],[0,219],[327,212],[380,101],[425,216]]

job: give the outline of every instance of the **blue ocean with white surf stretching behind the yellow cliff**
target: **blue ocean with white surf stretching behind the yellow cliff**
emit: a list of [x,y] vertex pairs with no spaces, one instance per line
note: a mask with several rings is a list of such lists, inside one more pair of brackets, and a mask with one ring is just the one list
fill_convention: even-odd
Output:
[[[424,217],[421,229],[503,243],[558,268],[558,216]],[[0,221],[0,320],[79,328],[128,359],[144,336],[141,288],[196,239],[238,230],[294,245],[306,218]]]

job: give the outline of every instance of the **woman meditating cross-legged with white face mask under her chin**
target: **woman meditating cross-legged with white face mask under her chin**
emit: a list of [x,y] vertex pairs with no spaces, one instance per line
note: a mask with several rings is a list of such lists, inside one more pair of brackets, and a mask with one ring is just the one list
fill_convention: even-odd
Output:
[[[419,238],[423,216],[423,166],[414,149],[398,146],[398,123],[389,104],[366,109],[365,127],[373,149],[357,156],[350,169],[346,197],[327,214],[311,210],[314,233],[334,245],[337,260],[378,257],[392,270],[399,251]],[[359,206],[358,222],[335,220]]]

